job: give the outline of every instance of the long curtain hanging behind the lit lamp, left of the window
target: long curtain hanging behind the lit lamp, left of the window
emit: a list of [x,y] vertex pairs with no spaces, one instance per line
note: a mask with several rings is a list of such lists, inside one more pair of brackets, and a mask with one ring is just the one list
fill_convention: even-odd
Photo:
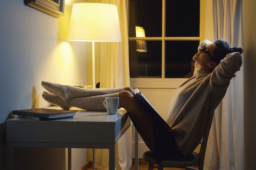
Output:
[[[89,0],[88,0],[89,1]],[[100,51],[100,87],[118,88],[130,86],[128,24],[126,0],[90,0],[90,2],[110,3],[117,5],[121,29],[121,42],[102,42]],[[132,129],[117,141],[116,170],[130,170],[132,166]],[[96,149],[95,168],[108,170],[108,149]]]

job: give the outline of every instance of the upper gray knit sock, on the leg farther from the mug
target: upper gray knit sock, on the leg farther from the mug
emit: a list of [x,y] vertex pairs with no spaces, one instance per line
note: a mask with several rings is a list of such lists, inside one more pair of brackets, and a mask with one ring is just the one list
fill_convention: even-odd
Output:
[[55,84],[50,82],[42,81],[42,86],[55,95],[61,97],[61,99],[67,101],[74,97],[89,97],[96,95],[106,95],[112,93],[119,93],[124,91],[122,88],[80,88],[75,86],[68,86],[62,84]]

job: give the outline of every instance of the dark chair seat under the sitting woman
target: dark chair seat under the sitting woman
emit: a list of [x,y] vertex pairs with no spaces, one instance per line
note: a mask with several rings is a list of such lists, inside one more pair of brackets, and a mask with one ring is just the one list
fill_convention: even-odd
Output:
[[198,165],[198,159],[196,159],[197,156],[198,156],[198,153],[193,152],[192,154],[186,157],[166,158],[161,160],[160,162],[157,162],[155,159],[155,155],[153,154],[153,152],[149,150],[143,154],[143,159],[147,162],[160,164],[164,166],[197,166]]

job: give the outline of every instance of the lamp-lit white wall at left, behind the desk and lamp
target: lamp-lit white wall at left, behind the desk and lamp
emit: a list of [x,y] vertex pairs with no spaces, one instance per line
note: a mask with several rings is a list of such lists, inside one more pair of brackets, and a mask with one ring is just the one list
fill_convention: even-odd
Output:
[[[0,1],[0,170],[7,167],[5,120],[11,117],[11,110],[48,107],[41,97],[42,80],[87,84],[87,43],[66,41],[69,19],[67,8],[65,16],[57,19],[25,6],[24,0]],[[36,155],[29,155],[35,151]],[[19,169],[65,167],[63,149],[20,148],[15,154],[18,159],[27,156],[45,161],[40,167]]]

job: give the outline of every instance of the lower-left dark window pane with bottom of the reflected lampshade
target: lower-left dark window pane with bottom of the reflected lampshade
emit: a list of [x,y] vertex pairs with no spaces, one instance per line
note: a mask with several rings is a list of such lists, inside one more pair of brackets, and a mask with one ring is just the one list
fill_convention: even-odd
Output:
[[162,42],[144,41],[147,52],[138,52],[138,41],[129,41],[130,77],[161,77],[162,75]]

